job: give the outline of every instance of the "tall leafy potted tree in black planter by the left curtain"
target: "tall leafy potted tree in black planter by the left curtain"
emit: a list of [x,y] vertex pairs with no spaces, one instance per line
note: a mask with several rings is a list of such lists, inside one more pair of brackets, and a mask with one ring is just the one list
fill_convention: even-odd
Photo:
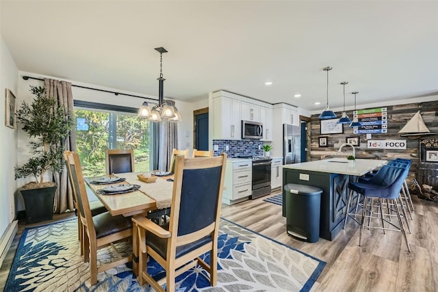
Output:
[[44,87],[31,85],[30,92],[34,94],[34,100],[32,103],[23,101],[16,111],[16,118],[31,139],[29,152],[34,156],[21,167],[14,168],[15,179],[28,176],[35,179],[20,189],[28,224],[53,217],[56,185],[53,181],[44,181],[44,174],[62,170],[62,141],[73,125],[68,109],[57,105],[55,98],[47,96]]

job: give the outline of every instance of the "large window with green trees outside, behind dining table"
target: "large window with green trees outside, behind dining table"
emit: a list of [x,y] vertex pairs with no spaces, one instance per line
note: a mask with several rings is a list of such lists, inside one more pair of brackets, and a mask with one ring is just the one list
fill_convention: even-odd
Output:
[[77,153],[84,176],[105,174],[106,149],[134,150],[136,172],[149,171],[149,121],[137,109],[75,101]]

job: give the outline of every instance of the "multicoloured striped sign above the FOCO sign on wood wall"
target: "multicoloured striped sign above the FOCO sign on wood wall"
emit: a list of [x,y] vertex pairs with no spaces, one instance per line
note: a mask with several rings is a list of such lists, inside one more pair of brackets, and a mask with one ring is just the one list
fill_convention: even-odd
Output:
[[353,118],[355,117],[361,123],[361,127],[353,127],[353,133],[355,134],[388,133],[388,112],[386,107],[353,111]]

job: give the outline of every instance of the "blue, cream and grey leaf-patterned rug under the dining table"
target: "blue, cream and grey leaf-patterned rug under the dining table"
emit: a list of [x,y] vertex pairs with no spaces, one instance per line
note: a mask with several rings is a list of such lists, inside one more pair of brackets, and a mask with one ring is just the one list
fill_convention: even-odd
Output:
[[[116,245],[131,254],[129,243]],[[177,277],[177,291],[309,291],[326,265],[287,245],[222,219],[218,239],[218,284],[210,287],[208,274],[194,267]],[[115,255],[99,251],[99,263]],[[203,256],[209,262],[209,254]],[[83,263],[77,239],[77,221],[70,220],[23,231],[5,291],[155,291],[140,286],[132,265],[120,265],[98,275],[90,286],[88,263]],[[164,274],[155,261],[149,272]]]

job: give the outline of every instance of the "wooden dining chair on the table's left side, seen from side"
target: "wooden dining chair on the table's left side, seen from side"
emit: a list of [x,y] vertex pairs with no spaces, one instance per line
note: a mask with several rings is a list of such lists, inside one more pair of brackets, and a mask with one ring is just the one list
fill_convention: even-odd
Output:
[[[109,212],[92,216],[79,155],[74,152],[66,153],[66,159],[70,165],[70,178],[77,192],[79,218],[83,226],[83,258],[86,262],[90,261],[90,283],[94,285],[97,274],[132,261],[131,255],[121,256],[113,244],[132,241],[132,222],[130,217],[112,216]],[[108,246],[113,249],[116,260],[98,267],[97,251]]]

